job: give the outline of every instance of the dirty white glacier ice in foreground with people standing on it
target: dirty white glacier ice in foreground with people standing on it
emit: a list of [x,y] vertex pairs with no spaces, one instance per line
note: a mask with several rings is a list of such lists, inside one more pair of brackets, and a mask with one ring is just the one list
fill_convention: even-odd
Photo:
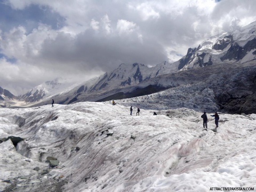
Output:
[[[0,108],[0,138],[25,139],[16,148],[10,140],[0,144],[0,191],[256,191],[256,114],[220,114],[212,132],[191,109],[153,116],[142,106],[136,116],[133,106],[130,116],[126,104]],[[49,168],[47,156],[60,165]]]

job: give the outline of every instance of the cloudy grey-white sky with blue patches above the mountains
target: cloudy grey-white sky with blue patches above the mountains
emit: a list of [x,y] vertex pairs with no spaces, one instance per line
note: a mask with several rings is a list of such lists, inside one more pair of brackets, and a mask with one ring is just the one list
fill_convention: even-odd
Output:
[[0,0],[0,86],[88,80],[134,62],[173,62],[256,20],[256,0]]

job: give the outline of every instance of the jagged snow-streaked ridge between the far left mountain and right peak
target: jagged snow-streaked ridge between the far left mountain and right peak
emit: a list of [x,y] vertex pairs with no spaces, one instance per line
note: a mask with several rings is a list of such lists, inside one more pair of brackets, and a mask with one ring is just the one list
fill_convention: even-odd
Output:
[[[116,92],[113,90],[118,90],[120,88],[129,89],[148,79],[176,71],[176,63],[169,64],[166,61],[157,64],[152,68],[138,63],[120,64],[116,70],[106,72],[100,77],[81,83],[79,86],[72,88],[67,92],[55,95],[54,98],[59,104],[71,104],[84,100],[100,100],[103,97]],[[42,104],[47,104],[48,102],[49,99],[45,99],[34,106],[40,106]]]

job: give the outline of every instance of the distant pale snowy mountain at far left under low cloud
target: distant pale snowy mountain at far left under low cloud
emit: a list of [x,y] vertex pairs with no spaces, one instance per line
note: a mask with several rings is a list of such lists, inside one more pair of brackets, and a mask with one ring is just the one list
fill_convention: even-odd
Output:
[[60,94],[61,92],[66,91],[71,85],[72,84],[65,82],[62,78],[56,78],[55,80],[46,81],[43,84],[32,88],[24,95],[18,96],[18,99],[26,102],[36,102],[43,98]]

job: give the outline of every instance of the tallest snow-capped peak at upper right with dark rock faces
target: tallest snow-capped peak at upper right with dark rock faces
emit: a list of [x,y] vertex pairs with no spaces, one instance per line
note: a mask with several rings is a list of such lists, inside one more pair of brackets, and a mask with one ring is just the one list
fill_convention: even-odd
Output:
[[227,62],[246,63],[256,59],[256,21],[232,32],[205,40],[198,48],[189,48],[179,60],[179,70]]

